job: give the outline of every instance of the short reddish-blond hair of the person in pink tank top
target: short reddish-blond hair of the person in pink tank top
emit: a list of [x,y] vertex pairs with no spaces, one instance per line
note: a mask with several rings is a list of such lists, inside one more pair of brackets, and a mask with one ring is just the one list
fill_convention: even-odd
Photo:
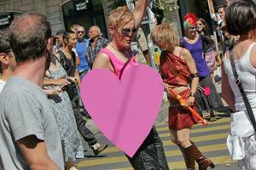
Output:
[[122,6],[114,9],[109,14],[108,25],[119,28],[120,26],[125,26],[131,20],[135,20],[134,15],[127,6]]

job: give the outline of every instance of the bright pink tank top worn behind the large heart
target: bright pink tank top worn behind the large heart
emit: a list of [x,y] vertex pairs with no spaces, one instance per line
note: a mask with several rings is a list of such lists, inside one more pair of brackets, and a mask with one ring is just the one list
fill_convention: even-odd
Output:
[[121,79],[123,73],[133,65],[138,65],[135,57],[131,57],[127,62],[118,59],[108,48],[102,48],[99,53],[108,54],[114,74]]

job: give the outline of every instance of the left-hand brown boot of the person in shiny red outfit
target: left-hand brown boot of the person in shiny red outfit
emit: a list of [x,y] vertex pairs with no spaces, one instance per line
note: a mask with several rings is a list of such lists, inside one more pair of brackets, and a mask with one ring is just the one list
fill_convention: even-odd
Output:
[[188,170],[195,170],[195,145],[184,148],[184,158]]

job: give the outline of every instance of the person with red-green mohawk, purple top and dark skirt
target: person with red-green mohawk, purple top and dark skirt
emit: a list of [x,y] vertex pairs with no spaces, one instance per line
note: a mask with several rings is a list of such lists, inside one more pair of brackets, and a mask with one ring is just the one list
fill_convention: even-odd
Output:
[[[210,121],[216,121],[214,109],[223,106],[222,100],[212,82],[211,72],[207,66],[207,62],[203,59],[203,40],[196,31],[195,14],[186,14],[184,17],[185,37],[181,38],[181,45],[187,48],[195,60],[196,69],[199,76],[199,86],[202,88],[210,88],[209,95],[204,94],[203,90],[197,90],[195,94],[196,108],[199,112],[210,111]],[[204,42],[207,42],[205,40]]]

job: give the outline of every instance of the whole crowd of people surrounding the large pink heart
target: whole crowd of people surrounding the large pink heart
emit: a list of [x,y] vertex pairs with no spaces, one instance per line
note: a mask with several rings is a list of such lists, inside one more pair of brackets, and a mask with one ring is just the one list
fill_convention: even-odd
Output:
[[[84,108],[79,85],[90,70],[104,68],[122,80],[125,71],[140,65],[131,42],[148,3],[138,0],[134,13],[126,6],[113,10],[108,16],[110,41],[102,37],[99,26],[90,27],[89,39],[79,25],[52,36],[49,22],[41,14],[22,14],[9,29],[0,31],[1,170],[75,170],[74,161],[84,158],[82,138],[95,156],[108,147],[100,144],[86,127],[83,116],[90,117],[90,113]],[[210,3],[213,5],[214,1]],[[231,115],[227,142],[230,156],[238,160],[239,169],[253,170],[256,136],[230,60],[235,60],[241,76],[238,83],[255,112],[256,5],[252,0],[223,1],[211,10],[212,20],[219,17],[216,31],[237,111]],[[160,24],[154,27],[151,39],[161,51],[159,72],[170,103],[168,126],[172,142],[183,153],[188,170],[195,169],[195,162],[205,170],[215,165],[190,139],[191,129],[199,121],[188,107],[201,116],[208,111],[208,121],[218,119],[215,110],[223,103],[212,78],[218,66],[213,44],[218,40],[210,35],[207,22],[195,14],[184,16],[183,28],[184,37],[179,37],[173,26]],[[170,90],[179,94],[184,103]],[[154,126],[136,154],[126,157],[136,170],[169,169]]]

